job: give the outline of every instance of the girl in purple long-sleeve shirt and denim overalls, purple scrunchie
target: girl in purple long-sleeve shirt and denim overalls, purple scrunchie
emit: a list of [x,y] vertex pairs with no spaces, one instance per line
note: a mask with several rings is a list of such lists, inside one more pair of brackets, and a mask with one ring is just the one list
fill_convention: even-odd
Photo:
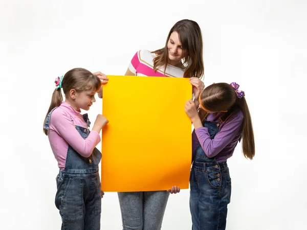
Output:
[[192,100],[185,111],[194,125],[190,212],[192,230],[226,228],[231,179],[227,159],[242,140],[243,154],[252,159],[255,144],[250,112],[239,85],[216,83],[200,94],[199,112]]

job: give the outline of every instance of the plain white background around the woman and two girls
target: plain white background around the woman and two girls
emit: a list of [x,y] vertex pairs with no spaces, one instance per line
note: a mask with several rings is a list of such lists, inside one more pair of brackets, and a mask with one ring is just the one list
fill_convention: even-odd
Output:
[[[206,85],[240,84],[250,107],[254,160],[229,159],[227,229],[302,229],[307,214],[307,2],[0,1],[1,229],[59,229],[56,160],[43,119],[54,79],[74,67],[123,75],[140,49],[162,48],[170,28],[200,25]],[[94,122],[97,102],[89,111]],[[98,148],[101,149],[100,144]],[[170,195],[162,229],[190,229],[189,191]],[[102,229],[121,229],[116,193]]]

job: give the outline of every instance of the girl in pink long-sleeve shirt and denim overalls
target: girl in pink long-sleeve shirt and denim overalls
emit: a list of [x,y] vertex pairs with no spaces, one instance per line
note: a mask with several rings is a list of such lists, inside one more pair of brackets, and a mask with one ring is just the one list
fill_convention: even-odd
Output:
[[[94,74],[102,76],[100,72]],[[60,168],[55,205],[62,218],[61,229],[100,229],[103,192],[98,164],[101,153],[95,146],[100,142],[100,130],[108,121],[98,114],[90,131],[87,114],[80,114],[80,109],[90,109],[101,83],[107,81],[105,76],[100,81],[94,74],[74,68],[62,79],[56,79],[43,126]],[[62,101],[61,88],[65,101]]]

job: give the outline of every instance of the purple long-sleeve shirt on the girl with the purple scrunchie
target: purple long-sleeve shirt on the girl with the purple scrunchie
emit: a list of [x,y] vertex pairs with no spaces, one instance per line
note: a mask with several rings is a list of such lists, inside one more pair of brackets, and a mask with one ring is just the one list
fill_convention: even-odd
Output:
[[225,162],[232,156],[234,149],[240,139],[243,128],[243,112],[234,110],[224,123],[220,118],[224,112],[210,113],[208,121],[220,123],[220,131],[211,140],[208,128],[200,127],[192,132],[192,154],[201,145],[208,157],[214,157],[217,162]]

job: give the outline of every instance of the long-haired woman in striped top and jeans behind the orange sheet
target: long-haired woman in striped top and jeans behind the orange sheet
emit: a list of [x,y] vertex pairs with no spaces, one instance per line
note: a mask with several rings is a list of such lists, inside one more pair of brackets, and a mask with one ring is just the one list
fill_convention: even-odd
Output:
[[[192,20],[178,21],[169,31],[165,47],[153,52],[138,51],[132,58],[126,76],[156,76],[190,78],[194,103],[199,106],[199,95],[204,88],[200,78],[204,74],[203,39],[199,25]],[[119,192],[123,230],[161,229],[168,191]]]

